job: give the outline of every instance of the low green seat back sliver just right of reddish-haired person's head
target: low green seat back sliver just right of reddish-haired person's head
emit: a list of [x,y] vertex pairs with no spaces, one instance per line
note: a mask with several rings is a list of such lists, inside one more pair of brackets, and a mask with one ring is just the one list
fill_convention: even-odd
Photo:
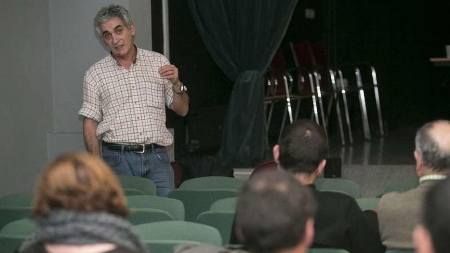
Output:
[[173,216],[164,210],[150,208],[130,208],[127,220],[133,224],[144,224],[163,220],[175,220]]

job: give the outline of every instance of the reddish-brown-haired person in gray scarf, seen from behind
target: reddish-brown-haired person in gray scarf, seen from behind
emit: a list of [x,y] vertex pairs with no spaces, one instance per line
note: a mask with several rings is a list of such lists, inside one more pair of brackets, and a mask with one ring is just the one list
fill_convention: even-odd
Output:
[[145,252],[125,217],[113,172],[87,153],[58,157],[43,172],[34,199],[36,232],[20,252]]

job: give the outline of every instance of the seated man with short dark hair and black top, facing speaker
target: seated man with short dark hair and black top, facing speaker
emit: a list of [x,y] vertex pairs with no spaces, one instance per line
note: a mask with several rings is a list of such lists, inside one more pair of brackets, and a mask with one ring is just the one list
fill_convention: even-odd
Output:
[[353,198],[320,192],[314,187],[314,181],[325,168],[328,153],[328,140],[322,127],[309,120],[292,123],[283,131],[273,153],[279,167],[293,173],[317,198],[312,247],[341,248],[352,253],[384,252],[376,229]]

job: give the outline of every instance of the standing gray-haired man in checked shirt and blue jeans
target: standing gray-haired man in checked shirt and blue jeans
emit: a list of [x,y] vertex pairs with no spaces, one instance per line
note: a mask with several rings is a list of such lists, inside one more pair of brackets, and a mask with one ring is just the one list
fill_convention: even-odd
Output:
[[165,106],[186,116],[186,86],[166,57],[133,43],[136,30],[123,6],[101,8],[94,27],[110,53],[84,75],[78,114],[84,117],[87,150],[102,154],[116,174],[153,180],[158,195],[167,196],[174,181],[165,149],[173,142]]

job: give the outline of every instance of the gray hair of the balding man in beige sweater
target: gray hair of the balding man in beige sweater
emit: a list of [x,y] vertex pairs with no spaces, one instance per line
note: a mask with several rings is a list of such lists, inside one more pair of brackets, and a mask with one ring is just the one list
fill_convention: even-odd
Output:
[[423,125],[416,133],[416,150],[422,157],[423,164],[435,171],[450,170],[449,150],[443,149],[430,135],[433,126],[441,123],[450,124],[444,120],[432,121]]

